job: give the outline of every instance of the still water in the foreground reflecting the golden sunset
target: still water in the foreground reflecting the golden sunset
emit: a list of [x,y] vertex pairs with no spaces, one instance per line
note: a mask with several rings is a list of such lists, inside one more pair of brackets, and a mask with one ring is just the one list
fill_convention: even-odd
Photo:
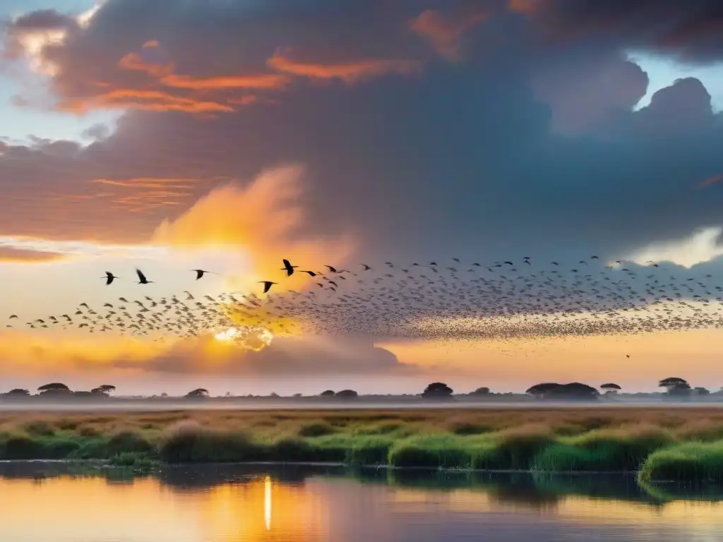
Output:
[[2,542],[723,541],[715,488],[624,476],[0,465]]

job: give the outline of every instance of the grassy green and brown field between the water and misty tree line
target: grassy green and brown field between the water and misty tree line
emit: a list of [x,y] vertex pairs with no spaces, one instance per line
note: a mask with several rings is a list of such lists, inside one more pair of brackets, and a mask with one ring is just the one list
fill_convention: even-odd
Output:
[[2,413],[0,459],[305,462],[723,481],[723,408]]

